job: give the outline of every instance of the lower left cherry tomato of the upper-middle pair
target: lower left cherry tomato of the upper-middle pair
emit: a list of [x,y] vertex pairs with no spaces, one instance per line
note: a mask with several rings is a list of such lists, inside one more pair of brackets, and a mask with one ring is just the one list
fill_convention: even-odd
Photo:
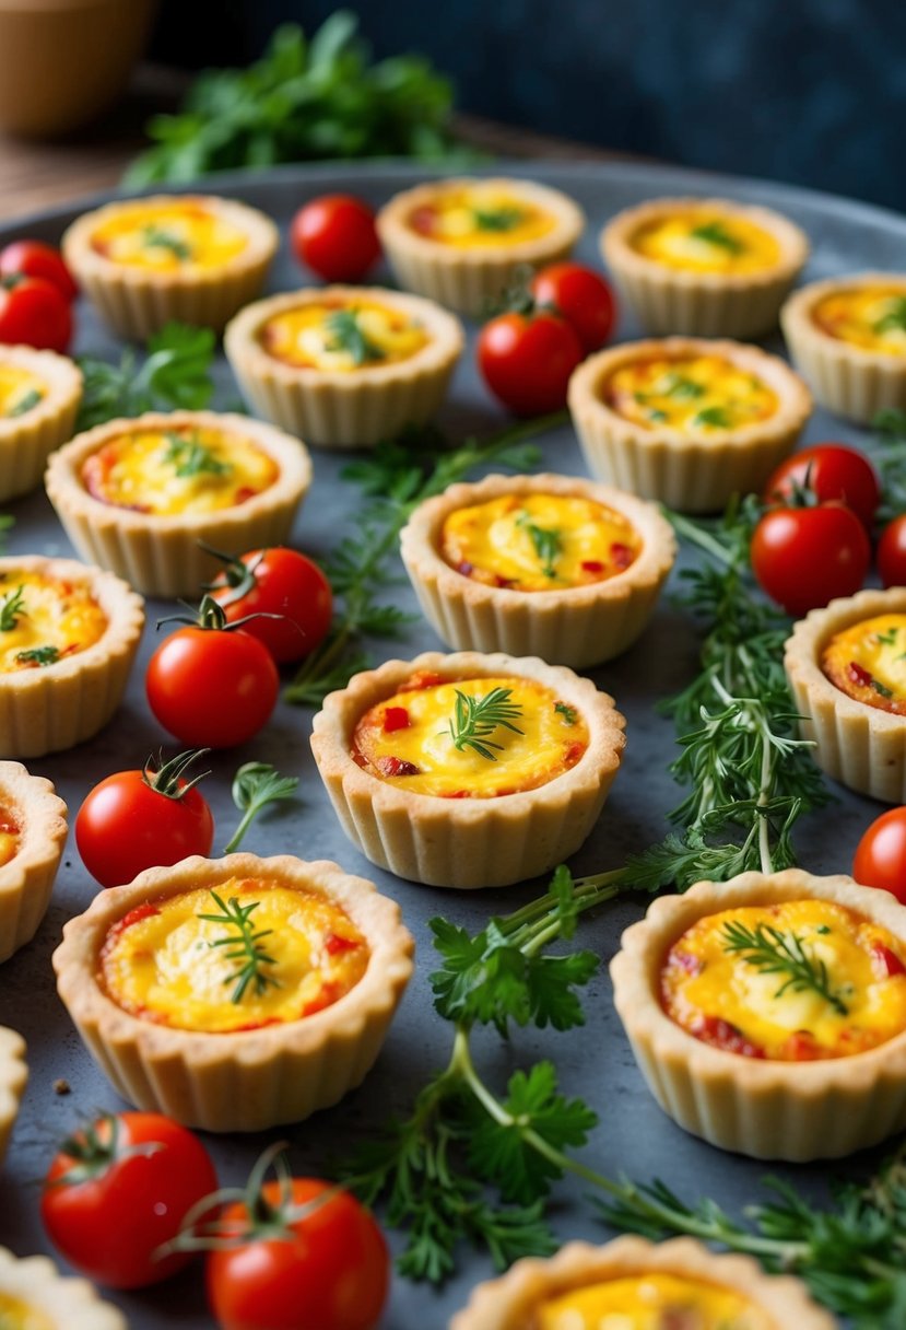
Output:
[[498,314],[478,336],[478,366],[496,398],[515,415],[543,415],[566,406],[582,343],[555,314]]

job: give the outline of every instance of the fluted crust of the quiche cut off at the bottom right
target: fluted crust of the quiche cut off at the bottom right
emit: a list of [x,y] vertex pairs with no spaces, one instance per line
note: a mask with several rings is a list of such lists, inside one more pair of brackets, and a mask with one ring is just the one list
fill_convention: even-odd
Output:
[[[648,1242],[619,1237],[603,1246],[569,1242],[549,1260],[529,1257],[497,1279],[480,1283],[450,1330],[535,1330],[533,1313],[549,1298],[632,1275],[672,1274],[700,1279],[751,1301],[776,1330],[836,1330],[805,1286],[790,1275],[765,1274],[747,1256],[717,1256],[693,1238]],[[622,1322],[620,1322],[622,1323]]]

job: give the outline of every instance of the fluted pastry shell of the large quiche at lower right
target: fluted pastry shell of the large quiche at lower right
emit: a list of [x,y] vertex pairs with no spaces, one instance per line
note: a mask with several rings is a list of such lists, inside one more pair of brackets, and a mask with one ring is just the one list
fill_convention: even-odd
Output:
[[841,1158],[906,1127],[906,1031],[849,1057],[786,1063],[712,1048],[660,1005],[664,956],[693,923],[721,910],[801,899],[836,902],[906,943],[906,907],[890,892],[788,868],[662,896],[626,930],[610,966],[614,1005],[660,1107],[693,1136],[753,1158]]

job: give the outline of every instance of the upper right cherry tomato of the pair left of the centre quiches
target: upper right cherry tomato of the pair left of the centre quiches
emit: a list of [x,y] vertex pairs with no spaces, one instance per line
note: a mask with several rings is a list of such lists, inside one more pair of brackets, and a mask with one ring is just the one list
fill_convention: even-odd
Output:
[[252,549],[230,559],[210,591],[228,624],[247,616],[279,616],[248,618],[243,630],[280,664],[308,656],[331,626],[331,584],[317,564],[295,549]]

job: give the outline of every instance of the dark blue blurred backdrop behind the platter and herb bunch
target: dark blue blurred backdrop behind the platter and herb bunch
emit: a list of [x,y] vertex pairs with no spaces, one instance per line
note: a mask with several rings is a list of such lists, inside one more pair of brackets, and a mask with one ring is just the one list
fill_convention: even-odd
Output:
[[[151,55],[244,64],[336,0],[163,0]],[[457,106],[622,152],[906,210],[902,0],[363,0],[377,56],[418,51]]]

